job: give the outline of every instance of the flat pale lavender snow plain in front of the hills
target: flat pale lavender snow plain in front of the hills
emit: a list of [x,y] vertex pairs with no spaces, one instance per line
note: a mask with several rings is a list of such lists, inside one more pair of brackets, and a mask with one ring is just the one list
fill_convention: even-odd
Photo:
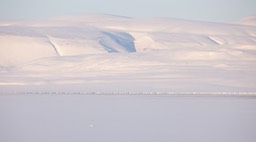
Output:
[[256,99],[0,95],[1,142],[255,142]]

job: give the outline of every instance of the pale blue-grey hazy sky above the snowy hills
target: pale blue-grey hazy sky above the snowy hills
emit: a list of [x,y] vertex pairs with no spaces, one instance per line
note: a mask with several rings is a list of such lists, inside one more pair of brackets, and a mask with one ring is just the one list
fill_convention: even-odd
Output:
[[107,13],[225,22],[256,15],[255,6],[256,0],[0,0],[0,19]]

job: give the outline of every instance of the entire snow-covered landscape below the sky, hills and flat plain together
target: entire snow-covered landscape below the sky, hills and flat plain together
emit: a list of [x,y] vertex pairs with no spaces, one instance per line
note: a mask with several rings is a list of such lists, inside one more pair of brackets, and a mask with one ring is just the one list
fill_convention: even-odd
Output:
[[253,95],[104,95],[255,94],[254,21],[2,21],[0,141],[254,142]]

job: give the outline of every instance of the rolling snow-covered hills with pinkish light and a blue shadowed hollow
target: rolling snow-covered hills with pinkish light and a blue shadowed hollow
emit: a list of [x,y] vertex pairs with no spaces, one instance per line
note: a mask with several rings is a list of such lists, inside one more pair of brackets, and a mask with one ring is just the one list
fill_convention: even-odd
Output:
[[3,21],[0,90],[255,92],[256,26],[104,14]]

